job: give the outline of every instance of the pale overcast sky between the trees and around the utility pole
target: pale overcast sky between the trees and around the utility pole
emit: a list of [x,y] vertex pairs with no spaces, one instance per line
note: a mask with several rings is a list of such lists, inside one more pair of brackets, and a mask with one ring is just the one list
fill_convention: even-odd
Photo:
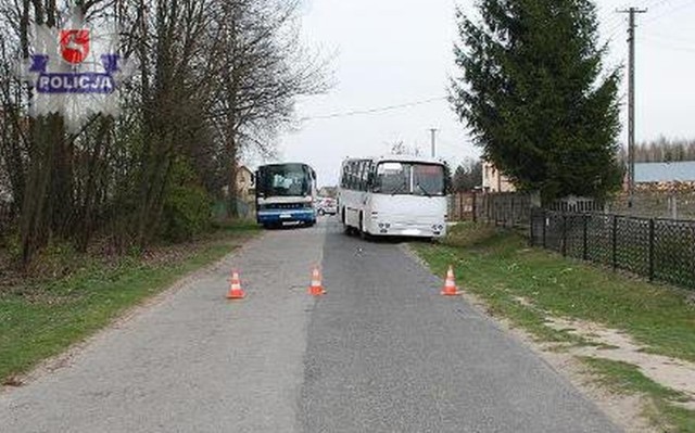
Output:
[[[473,4],[304,0],[304,43],[332,56],[334,86],[298,102],[302,120],[279,137],[276,161],[307,163],[319,186],[331,186],[349,156],[387,154],[399,141],[429,155],[431,128],[438,129],[438,157],[452,166],[478,157],[445,100],[450,77],[459,75],[455,8],[472,13]],[[648,9],[636,17],[636,141],[695,138],[695,0],[597,0],[596,5],[601,40],[609,47],[607,66],[626,66],[620,140],[627,142],[628,133],[628,15],[616,11],[631,5]]]

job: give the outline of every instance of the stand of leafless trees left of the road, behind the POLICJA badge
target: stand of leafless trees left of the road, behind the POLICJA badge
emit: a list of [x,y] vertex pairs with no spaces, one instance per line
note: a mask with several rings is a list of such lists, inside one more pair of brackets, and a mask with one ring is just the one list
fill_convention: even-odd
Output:
[[117,23],[121,51],[138,64],[122,115],[96,115],[78,133],[58,115],[29,117],[33,89],[13,75],[31,24],[55,26],[67,2],[0,5],[0,188],[20,214],[25,265],[53,239],[144,247],[181,188],[216,195],[228,184],[233,200],[240,153],[271,152],[295,99],[328,87],[326,61],[299,42],[296,0],[77,4],[94,23]]

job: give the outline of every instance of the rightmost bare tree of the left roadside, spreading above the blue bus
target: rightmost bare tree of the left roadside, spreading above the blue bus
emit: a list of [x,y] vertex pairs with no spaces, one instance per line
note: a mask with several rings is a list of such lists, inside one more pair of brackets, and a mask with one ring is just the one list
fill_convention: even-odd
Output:
[[299,95],[327,89],[326,62],[299,43],[296,0],[235,0],[223,5],[217,25],[224,40],[213,118],[219,122],[236,213],[237,167],[242,147],[261,153],[292,120]]

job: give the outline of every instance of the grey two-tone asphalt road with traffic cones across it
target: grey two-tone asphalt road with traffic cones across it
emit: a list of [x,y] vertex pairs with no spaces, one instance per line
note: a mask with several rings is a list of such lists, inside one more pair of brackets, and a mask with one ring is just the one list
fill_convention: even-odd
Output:
[[[328,294],[307,295],[321,264]],[[229,271],[247,298],[224,298]],[[0,432],[616,432],[397,243],[266,232],[0,393]]]

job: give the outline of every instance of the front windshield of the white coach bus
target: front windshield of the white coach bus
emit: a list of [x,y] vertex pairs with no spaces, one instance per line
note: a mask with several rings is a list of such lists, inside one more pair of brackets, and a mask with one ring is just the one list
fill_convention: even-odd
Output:
[[377,166],[374,192],[444,195],[444,167],[438,164],[386,162]]

